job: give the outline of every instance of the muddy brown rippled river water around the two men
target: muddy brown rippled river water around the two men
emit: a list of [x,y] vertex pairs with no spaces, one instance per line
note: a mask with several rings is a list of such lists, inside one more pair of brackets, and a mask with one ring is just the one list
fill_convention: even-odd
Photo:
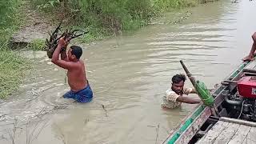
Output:
[[69,90],[66,71],[46,52],[26,51],[36,64],[0,103],[0,143],[162,143],[194,109],[161,108],[170,79],[184,73],[179,60],[214,87],[249,53],[254,14],[256,2],[219,1],[165,14],[132,35],[83,45],[94,90],[86,104],[60,98]]

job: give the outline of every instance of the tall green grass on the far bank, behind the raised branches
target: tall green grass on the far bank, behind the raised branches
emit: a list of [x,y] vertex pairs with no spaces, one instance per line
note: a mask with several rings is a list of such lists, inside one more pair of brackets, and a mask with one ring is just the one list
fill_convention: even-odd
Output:
[[168,10],[196,6],[202,0],[30,0],[45,12],[68,19],[71,26],[87,28],[86,38],[102,38],[137,30],[150,18]]

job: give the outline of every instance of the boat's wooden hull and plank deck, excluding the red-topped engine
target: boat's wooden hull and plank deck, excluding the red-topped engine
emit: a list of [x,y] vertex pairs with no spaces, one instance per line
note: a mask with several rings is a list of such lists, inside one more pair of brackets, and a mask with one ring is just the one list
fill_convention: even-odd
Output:
[[[224,102],[226,92],[235,90],[239,79],[244,76],[256,77],[256,55],[254,61],[242,62],[227,78],[224,78],[221,86],[217,86],[213,90],[214,109],[202,104],[198,105],[191,114],[182,120],[174,132],[168,135],[168,138],[163,143],[256,144],[256,122],[226,118],[228,111],[226,111],[222,103]],[[215,110],[218,110],[218,114],[213,113]]]

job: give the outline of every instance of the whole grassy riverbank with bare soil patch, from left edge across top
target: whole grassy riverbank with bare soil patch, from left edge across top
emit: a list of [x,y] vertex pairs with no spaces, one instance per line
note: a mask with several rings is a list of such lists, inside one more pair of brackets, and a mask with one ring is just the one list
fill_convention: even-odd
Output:
[[[38,0],[10,0],[8,2],[0,2],[2,15],[0,21],[0,98],[6,98],[17,90],[18,86],[22,83],[22,78],[24,78],[26,72],[28,72],[31,67],[30,60],[22,58],[18,51],[10,50],[9,46],[11,36],[14,32],[21,29],[22,26],[27,26],[27,29],[21,31],[21,34],[27,33],[26,35],[30,35],[30,38],[26,39],[26,42],[30,42],[28,48],[32,50],[42,50],[44,46],[43,40],[40,39],[40,37],[35,37],[40,34],[31,33],[30,30],[39,33],[42,33],[42,30],[44,30],[44,34],[46,34],[47,28],[51,24],[54,25],[54,22],[59,22],[59,19],[63,17],[66,18],[65,22],[68,24],[68,27],[89,30],[90,33],[86,34],[86,36],[79,41],[91,42],[113,37],[123,32],[127,33],[138,30],[142,26],[147,26],[151,18],[161,16],[161,14],[166,11],[181,9],[186,6],[197,6],[199,3],[206,1],[158,0],[153,2],[144,0],[140,1],[140,3],[137,1],[113,1],[112,4],[111,2],[90,1],[82,3],[82,1],[59,2]],[[47,25],[45,27],[45,22],[41,22],[44,18],[41,18],[40,14],[32,14],[31,11],[22,10],[24,6],[28,8],[27,4],[30,4],[32,9],[34,8],[34,10],[32,10],[33,12],[40,12],[41,16],[42,14],[46,15],[46,19],[48,19],[49,22],[46,22]],[[32,22],[30,22],[30,17],[33,17]],[[55,21],[53,19],[55,19]],[[40,29],[35,27],[39,27]],[[42,34],[42,37],[43,36]],[[24,37],[25,36],[22,35],[22,38]],[[37,39],[33,40],[32,38]]]

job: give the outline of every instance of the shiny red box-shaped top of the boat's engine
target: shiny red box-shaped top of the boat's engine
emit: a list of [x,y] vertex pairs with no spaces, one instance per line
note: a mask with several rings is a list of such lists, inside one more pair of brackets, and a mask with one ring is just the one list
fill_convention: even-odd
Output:
[[256,98],[256,77],[242,77],[238,81],[238,94],[244,98]]

